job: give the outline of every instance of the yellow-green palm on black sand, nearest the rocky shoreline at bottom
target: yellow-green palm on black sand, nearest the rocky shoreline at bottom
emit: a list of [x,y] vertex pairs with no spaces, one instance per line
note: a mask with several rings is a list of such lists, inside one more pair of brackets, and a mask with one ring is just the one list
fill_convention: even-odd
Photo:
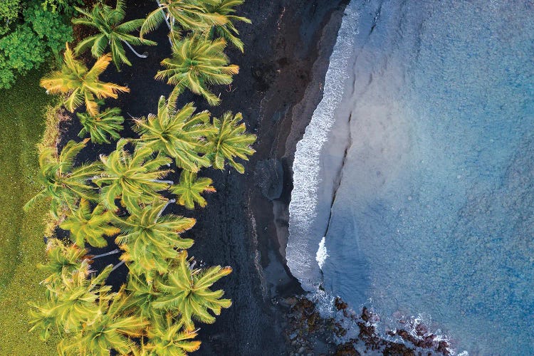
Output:
[[157,282],[161,295],[154,307],[164,310],[179,310],[187,330],[194,330],[193,320],[214,323],[221,308],[229,308],[231,300],[221,299],[224,290],[209,289],[220,278],[231,273],[231,267],[215,266],[204,270],[193,269],[187,260],[187,251],[181,251],[172,270]]

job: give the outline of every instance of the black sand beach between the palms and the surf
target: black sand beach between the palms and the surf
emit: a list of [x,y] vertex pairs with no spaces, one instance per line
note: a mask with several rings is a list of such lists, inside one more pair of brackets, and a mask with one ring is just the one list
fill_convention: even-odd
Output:
[[[234,268],[234,273],[216,285],[226,291],[225,296],[234,305],[223,310],[213,325],[201,325],[202,345],[195,355],[287,353],[283,329],[288,310],[278,300],[303,292],[285,263],[287,205],[292,189],[290,167],[296,142],[322,98],[328,58],[346,3],[347,0],[248,0],[238,9],[239,15],[253,21],[253,25],[239,24],[245,53],[227,51],[241,71],[234,78],[232,90],[213,88],[215,93],[221,93],[222,103],[209,110],[215,116],[226,110],[242,112],[248,131],[258,135],[256,155],[246,164],[245,174],[234,169],[201,172],[214,179],[217,189],[207,197],[206,208],[187,211],[173,205],[167,210],[197,219],[197,226],[184,234],[196,241],[190,255],[206,266]],[[155,1],[127,1],[127,5],[129,19],[155,9]],[[125,136],[133,135],[128,114],[138,117],[155,113],[159,95],[170,92],[171,87],[153,79],[159,61],[170,53],[166,30],[163,25],[147,36],[158,41],[158,46],[137,48],[140,53],[147,51],[149,58],[130,54],[131,68],[123,66],[122,72],[116,73],[110,66],[103,75],[105,80],[130,87],[130,94],[108,100],[108,105],[118,105],[123,110],[127,119]],[[190,101],[197,103],[199,110],[208,108],[205,100],[190,94],[182,95],[178,105]],[[78,140],[77,120],[63,129],[62,145],[70,139]],[[80,161],[97,159],[113,147],[90,145],[80,155]],[[178,174],[171,179],[177,181]],[[116,263],[115,257],[102,258],[95,264]],[[108,282],[120,284],[126,273],[122,266]]]

